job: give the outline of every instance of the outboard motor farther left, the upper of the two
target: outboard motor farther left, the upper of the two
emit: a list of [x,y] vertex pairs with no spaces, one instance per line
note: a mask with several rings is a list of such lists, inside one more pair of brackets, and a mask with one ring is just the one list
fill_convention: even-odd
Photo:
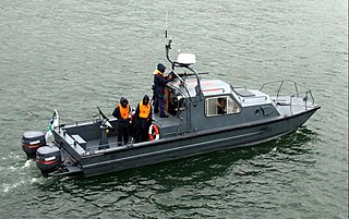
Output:
[[22,136],[22,148],[27,159],[35,158],[36,150],[46,145],[45,134],[39,131],[26,131]]

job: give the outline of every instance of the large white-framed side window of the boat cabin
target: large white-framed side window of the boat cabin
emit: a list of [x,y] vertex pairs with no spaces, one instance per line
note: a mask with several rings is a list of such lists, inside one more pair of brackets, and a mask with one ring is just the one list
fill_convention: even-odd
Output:
[[207,98],[205,101],[206,117],[239,113],[240,107],[233,101],[230,96],[220,96]]

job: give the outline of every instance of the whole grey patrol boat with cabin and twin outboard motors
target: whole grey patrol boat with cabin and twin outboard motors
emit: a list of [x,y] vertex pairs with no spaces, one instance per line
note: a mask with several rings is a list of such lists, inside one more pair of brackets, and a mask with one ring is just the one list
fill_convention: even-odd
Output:
[[37,131],[25,132],[22,138],[24,151],[36,158],[44,177],[89,177],[252,146],[297,130],[320,109],[312,92],[297,82],[270,82],[260,89],[233,87],[201,78],[193,69],[194,54],[179,53],[172,61],[170,49],[168,40],[166,57],[174,77],[165,92],[169,118],[154,114],[149,139],[118,146],[117,119],[108,119],[99,108],[99,118],[67,124],[59,123],[55,111],[52,143]]

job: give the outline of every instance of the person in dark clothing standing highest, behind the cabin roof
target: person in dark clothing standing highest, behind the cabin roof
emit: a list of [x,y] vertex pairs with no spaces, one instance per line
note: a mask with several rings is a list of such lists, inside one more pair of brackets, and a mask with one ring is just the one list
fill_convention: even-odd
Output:
[[161,63],[157,64],[157,70],[154,71],[154,113],[160,111],[161,118],[168,118],[165,114],[165,85],[172,80],[171,76],[164,76],[166,66]]

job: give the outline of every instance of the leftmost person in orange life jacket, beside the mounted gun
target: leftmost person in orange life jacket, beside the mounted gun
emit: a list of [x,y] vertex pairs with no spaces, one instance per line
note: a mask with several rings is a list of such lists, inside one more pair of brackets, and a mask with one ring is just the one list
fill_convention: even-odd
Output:
[[112,115],[118,118],[118,146],[121,146],[122,143],[124,145],[129,143],[130,112],[131,107],[129,105],[129,100],[121,97],[120,104],[112,112]]

